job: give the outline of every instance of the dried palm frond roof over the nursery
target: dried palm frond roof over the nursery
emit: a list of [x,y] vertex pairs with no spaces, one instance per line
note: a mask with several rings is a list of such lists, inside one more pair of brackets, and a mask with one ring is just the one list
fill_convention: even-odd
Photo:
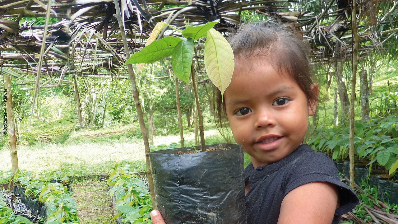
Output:
[[[242,12],[249,11],[273,16],[299,30],[312,48],[314,61],[351,60],[352,34],[348,16],[351,2],[322,1],[319,6],[310,8],[311,2],[302,6],[302,2],[295,0],[119,0],[133,52],[143,47],[156,22],[166,21],[183,28],[186,20],[191,24],[203,24],[219,19],[216,28],[228,35],[242,22]],[[29,74],[37,73],[48,0],[3,0],[0,4],[0,66],[8,69],[4,74],[27,78]],[[386,6],[388,12],[375,20],[376,24],[390,26],[389,30],[382,31],[384,33],[375,33],[370,26],[359,27],[361,42],[367,43],[361,47],[359,57],[375,47],[381,48],[380,43],[384,41],[381,38],[386,34],[389,34],[388,38],[392,37],[395,29],[391,29],[393,24],[390,22],[393,21],[386,18],[391,17],[397,5],[396,2],[389,3]],[[369,8],[365,3],[359,6],[363,12]],[[323,7],[323,10],[308,11],[316,7]],[[372,12],[375,14],[376,10]],[[46,33],[41,67],[45,79],[57,77],[62,83],[69,74],[109,77],[111,73],[111,78],[125,75],[125,69],[121,68],[125,52],[113,14],[113,0],[55,0],[49,15],[51,24]],[[37,20],[26,19],[29,16]],[[374,21],[376,16],[371,18]]]

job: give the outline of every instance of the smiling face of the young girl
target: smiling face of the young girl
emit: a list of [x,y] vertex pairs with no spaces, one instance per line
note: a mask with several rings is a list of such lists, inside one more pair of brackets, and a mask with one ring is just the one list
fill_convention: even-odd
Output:
[[[312,90],[318,94],[316,85]],[[235,59],[224,100],[234,139],[255,168],[285,158],[302,143],[317,103],[308,105],[298,84],[261,56]]]

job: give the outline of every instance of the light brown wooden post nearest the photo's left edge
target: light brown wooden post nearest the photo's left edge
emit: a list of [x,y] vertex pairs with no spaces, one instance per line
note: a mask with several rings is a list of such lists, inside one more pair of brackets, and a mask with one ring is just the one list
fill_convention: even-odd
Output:
[[[11,78],[5,75],[4,79],[5,79],[4,98],[6,98],[7,122],[8,122],[8,127],[6,128],[8,129],[8,143],[10,143],[12,174],[14,174],[18,170],[18,153],[17,153],[17,138],[15,135],[14,110],[12,109]],[[3,129],[3,132],[7,132],[6,128]],[[13,187],[13,183],[10,183],[10,187]]]

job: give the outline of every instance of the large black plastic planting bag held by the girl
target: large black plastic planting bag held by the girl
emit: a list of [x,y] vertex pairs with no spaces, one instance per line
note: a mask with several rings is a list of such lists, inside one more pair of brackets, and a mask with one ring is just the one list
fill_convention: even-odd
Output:
[[230,149],[178,155],[189,148],[176,148],[149,154],[156,202],[166,224],[246,224],[242,146],[209,147]]

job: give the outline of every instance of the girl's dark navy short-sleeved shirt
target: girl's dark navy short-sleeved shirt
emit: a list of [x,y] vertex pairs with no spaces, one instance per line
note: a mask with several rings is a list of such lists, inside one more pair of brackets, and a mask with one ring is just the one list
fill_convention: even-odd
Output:
[[328,182],[338,187],[340,207],[332,224],[359,203],[351,188],[340,181],[336,165],[323,153],[315,153],[308,145],[300,145],[287,157],[265,166],[245,168],[247,223],[276,224],[283,198],[291,190],[311,182]]

